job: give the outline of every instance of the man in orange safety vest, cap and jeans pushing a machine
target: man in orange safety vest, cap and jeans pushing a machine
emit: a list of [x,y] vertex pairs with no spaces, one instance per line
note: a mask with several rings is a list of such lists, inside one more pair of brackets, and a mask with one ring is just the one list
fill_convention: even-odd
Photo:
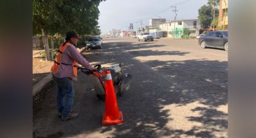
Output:
[[80,37],[75,31],[66,34],[65,42],[61,43],[58,53],[51,68],[52,79],[57,90],[58,117],[63,121],[74,119],[78,113],[72,113],[75,89],[73,80],[77,80],[76,62],[93,71],[96,68],[76,50],[76,44]]

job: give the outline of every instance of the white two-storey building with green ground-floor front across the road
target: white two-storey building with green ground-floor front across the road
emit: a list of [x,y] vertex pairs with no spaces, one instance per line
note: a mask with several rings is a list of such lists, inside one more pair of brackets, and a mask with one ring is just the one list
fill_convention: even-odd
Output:
[[159,28],[163,32],[163,37],[181,38],[184,29],[190,30],[190,37],[196,37],[199,35],[200,22],[199,19],[169,21],[159,25]]

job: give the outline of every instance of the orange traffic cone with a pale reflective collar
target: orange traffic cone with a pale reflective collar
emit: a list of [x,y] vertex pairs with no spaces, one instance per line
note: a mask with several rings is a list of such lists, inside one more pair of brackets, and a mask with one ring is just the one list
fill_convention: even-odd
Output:
[[105,93],[105,113],[102,115],[102,125],[122,123],[123,115],[117,106],[116,94],[114,92],[114,86],[109,70],[107,70]]

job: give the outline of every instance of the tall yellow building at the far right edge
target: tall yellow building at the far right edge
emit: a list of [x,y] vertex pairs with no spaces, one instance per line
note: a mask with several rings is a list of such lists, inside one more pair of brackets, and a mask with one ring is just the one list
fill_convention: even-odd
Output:
[[219,2],[219,23],[218,27],[228,29],[228,0]]

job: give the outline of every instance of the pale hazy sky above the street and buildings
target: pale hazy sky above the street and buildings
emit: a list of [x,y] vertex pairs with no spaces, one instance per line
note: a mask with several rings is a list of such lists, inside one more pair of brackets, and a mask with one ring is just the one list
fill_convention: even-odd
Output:
[[174,20],[172,6],[176,6],[177,20],[198,19],[198,9],[207,0],[106,0],[99,4],[99,26],[102,34],[112,29],[128,30],[133,23],[134,30],[149,25],[149,19]]

